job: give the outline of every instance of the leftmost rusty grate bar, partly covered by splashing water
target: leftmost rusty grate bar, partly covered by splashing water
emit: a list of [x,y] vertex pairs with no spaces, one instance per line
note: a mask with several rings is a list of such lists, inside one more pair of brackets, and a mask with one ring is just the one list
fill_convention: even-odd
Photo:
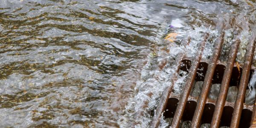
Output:
[[[191,37],[188,38],[188,41],[186,42],[186,45],[189,45],[190,41],[191,41]],[[186,45],[184,45],[184,46],[186,47]],[[169,87],[167,87],[163,91],[163,94],[162,94],[162,96],[160,98],[159,104],[157,105],[156,113],[154,114],[154,116],[152,118],[152,121],[151,121],[151,124],[150,124],[150,128],[156,128],[160,124],[161,114],[163,113],[163,111],[166,108],[169,96],[170,96],[170,94],[172,92],[172,89],[173,89],[173,85],[174,85],[175,81],[177,81],[177,73],[179,73],[180,64],[181,64],[181,61],[183,60],[184,57],[185,57],[184,54],[179,54],[178,57],[177,57],[178,59],[176,59],[176,63],[175,64],[177,64],[178,67],[175,70],[175,74],[171,78],[171,85]]]

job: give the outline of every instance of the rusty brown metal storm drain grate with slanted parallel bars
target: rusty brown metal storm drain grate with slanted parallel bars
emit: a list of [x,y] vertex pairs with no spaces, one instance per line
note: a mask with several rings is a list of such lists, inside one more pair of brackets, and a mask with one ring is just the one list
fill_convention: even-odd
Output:
[[[248,82],[256,70],[252,67],[255,38],[247,44],[244,64],[239,65],[235,62],[239,39],[232,42],[227,62],[218,60],[224,32],[215,44],[210,61],[202,59],[208,36],[207,33],[204,35],[196,58],[178,55],[176,73],[179,74],[180,70],[188,73],[183,93],[178,95],[172,92],[177,76],[172,77],[172,86],[163,92],[151,128],[159,126],[162,113],[165,119],[170,120],[171,128],[180,128],[181,125],[190,128],[202,125],[211,128],[256,128],[256,103],[245,102]],[[236,90],[236,93],[232,94],[230,90]],[[214,96],[214,93],[217,95]]]

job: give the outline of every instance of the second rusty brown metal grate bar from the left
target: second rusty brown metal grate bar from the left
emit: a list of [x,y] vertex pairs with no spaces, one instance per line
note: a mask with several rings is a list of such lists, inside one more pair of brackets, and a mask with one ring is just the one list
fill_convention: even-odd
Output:
[[189,75],[187,77],[188,80],[186,81],[186,85],[184,87],[182,97],[180,98],[179,104],[175,111],[175,115],[174,115],[172,125],[171,125],[172,128],[177,128],[180,124],[180,119],[182,118],[183,112],[185,110],[186,102],[188,100],[190,90],[191,90],[193,82],[195,80],[197,69],[198,69],[199,63],[201,61],[203,50],[204,50],[205,43],[206,43],[208,36],[209,36],[208,33],[204,35],[204,41],[201,42],[201,46],[199,47],[199,52],[196,55],[195,61],[192,62],[192,65],[189,69]]

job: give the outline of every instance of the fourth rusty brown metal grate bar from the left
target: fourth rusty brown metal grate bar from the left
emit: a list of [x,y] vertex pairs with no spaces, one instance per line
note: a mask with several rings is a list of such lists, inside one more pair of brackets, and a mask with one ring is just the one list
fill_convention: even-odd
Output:
[[230,79],[232,76],[232,71],[233,71],[232,69],[236,61],[236,55],[237,55],[239,44],[240,44],[240,40],[239,38],[237,38],[230,48],[231,50],[228,56],[227,67],[225,69],[224,77],[221,83],[221,89],[218,95],[217,103],[215,105],[215,110],[212,117],[211,128],[219,128],[222,112],[223,112],[225,101],[227,98],[228,87],[229,87]]

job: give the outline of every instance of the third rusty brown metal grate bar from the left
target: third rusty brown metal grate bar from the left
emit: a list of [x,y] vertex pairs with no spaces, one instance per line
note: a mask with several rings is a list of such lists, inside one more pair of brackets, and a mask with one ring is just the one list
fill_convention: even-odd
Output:
[[218,38],[216,46],[214,48],[211,60],[209,62],[207,73],[204,79],[204,84],[201,90],[201,95],[198,99],[198,104],[195,109],[195,114],[192,119],[191,128],[198,128],[201,123],[201,117],[203,115],[204,106],[208,97],[209,90],[212,85],[212,78],[214,75],[215,68],[217,66],[218,57],[221,52],[221,47],[224,41],[224,32],[221,33],[221,36]]

